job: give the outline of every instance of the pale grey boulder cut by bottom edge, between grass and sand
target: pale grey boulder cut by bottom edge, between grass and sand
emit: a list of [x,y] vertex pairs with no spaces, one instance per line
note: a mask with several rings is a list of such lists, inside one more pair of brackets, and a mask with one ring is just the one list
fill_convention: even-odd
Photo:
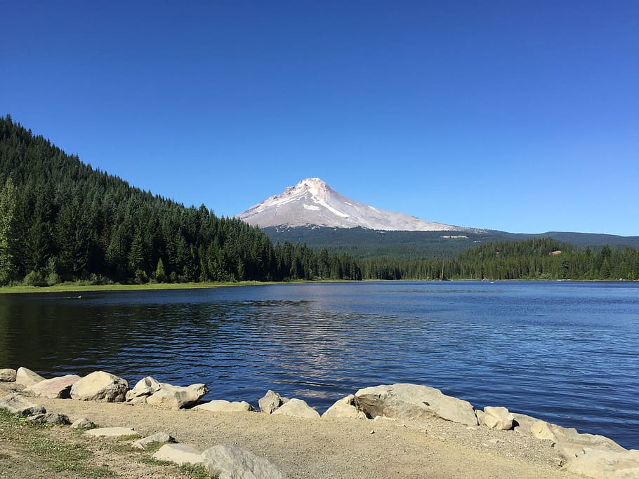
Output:
[[286,479],[268,459],[239,447],[217,445],[202,452],[211,475],[219,479]]

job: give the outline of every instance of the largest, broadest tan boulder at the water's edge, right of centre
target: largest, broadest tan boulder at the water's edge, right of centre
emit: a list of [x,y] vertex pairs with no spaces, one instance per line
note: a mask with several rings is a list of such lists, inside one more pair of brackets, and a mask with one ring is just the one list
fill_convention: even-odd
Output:
[[419,384],[391,384],[360,389],[355,393],[360,410],[369,417],[432,419],[435,417],[477,426],[473,405],[446,396],[439,389]]

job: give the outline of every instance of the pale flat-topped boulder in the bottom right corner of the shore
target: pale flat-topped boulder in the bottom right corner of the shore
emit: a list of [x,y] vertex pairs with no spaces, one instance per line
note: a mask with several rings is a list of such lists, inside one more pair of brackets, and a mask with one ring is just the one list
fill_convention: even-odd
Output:
[[602,451],[586,448],[584,454],[569,459],[563,468],[588,478],[639,478],[639,451]]

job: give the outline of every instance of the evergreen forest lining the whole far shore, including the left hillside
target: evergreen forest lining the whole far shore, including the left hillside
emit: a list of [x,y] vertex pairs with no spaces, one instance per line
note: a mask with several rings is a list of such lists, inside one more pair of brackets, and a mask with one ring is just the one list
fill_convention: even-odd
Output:
[[[356,230],[360,238],[366,234]],[[258,227],[132,187],[66,154],[11,116],[0,117],[0,285],[639,279],[637,248],[482,238],[463,251],[437,245],[415,254],[409,244],[419,238],[404,237],[404,248],[388,241],[365,245],[376,251],[366,257],[327,245],[274,244]]]

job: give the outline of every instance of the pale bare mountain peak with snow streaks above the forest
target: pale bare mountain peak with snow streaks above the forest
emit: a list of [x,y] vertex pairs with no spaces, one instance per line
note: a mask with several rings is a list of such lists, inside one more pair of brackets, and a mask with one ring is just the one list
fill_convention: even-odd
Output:
[[468,231],[470,228],[420,220],[404,213],[380,210],[353,201],[319,178],[306,178],[282,193],[237,215],[259,227],[362,227],[387,231]]

